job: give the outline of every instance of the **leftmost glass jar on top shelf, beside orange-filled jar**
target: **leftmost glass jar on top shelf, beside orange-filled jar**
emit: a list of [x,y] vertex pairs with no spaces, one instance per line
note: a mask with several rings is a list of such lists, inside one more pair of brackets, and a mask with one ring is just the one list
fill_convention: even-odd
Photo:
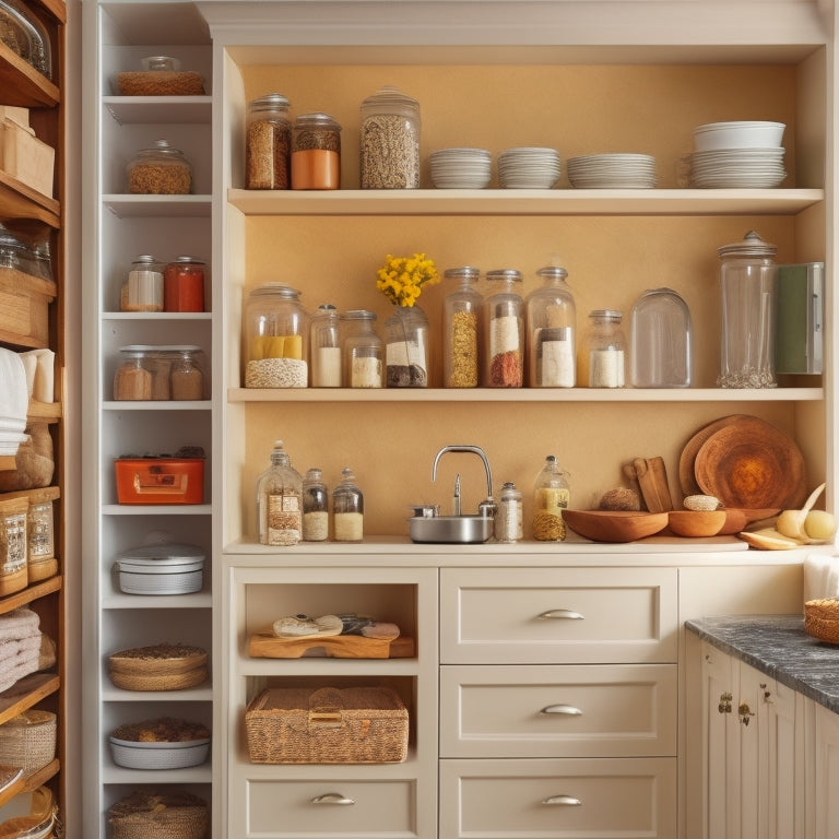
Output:
[[292,174],[288,108],[288,99],[282,93],[268,93],[248,105],[245,141],[247,189],[288,189]]

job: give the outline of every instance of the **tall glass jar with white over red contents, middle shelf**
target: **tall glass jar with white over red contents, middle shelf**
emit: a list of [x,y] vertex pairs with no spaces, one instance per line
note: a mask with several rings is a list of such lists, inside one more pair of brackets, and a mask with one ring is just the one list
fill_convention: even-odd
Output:
[[489,388],[521,388],[524,385],[524,299],[519,289],[521,272],[488,271],[492,292],[486,298],[485,385]]

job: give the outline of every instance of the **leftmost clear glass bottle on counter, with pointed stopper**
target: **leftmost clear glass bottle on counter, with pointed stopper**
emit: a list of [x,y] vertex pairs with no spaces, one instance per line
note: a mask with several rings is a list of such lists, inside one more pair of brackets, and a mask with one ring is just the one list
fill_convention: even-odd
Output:
[[303,537],[303,478],[283,441],[276,440],[271,465],[257,480],[257,529],[261,545],[296,545]]

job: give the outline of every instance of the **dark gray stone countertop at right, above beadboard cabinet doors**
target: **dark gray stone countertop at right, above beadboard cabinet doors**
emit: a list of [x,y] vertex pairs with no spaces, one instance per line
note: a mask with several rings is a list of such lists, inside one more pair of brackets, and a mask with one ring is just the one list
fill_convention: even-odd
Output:
[[687,621],[702,640],[839,713],[839,646],[804,631],[803,615],[736,615]]

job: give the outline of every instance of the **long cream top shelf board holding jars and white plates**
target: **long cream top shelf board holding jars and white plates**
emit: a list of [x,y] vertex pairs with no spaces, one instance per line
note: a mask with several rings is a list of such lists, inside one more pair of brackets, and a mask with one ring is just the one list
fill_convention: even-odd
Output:
[[822,189],[231,189],[246,215],[796,215]]

